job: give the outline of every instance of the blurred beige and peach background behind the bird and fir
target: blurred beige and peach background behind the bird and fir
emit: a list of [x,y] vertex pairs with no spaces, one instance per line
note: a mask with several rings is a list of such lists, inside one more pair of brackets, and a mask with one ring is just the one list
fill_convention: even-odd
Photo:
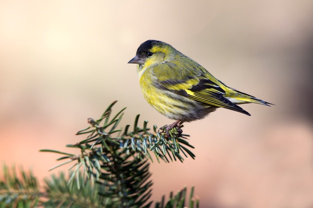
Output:
[[313,206],[313,1],[0,1],[0,161],[41,179],[74,134],[114,100],[162,126],[136,66],[167,42],[237,90],[275,104],[218,109],[186,123],[195,160],[151,164],[153,200],[195,186],[202,208]]

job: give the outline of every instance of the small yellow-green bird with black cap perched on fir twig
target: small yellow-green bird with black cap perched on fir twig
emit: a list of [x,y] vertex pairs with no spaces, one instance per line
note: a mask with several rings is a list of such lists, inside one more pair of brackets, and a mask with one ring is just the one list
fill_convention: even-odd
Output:
[[202,119],[219,107],[250,116],[237,104],[273,105],[226,86],[200,64],[162,41],[143,42],[128,63],[138,64],[145,100],[167,118],[176,120],[166,125],[167,136],[174,127],[181,135],[179,126],[183,122]]

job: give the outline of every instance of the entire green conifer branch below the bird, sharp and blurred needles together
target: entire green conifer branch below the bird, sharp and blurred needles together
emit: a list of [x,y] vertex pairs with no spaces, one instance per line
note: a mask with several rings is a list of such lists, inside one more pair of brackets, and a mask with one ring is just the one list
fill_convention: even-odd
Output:
[[[88,119],[89,127],[78,131],[77,135],[87,137],[75,144],[66,145],[79,150],[79,154],[70,154],[56,150],[40,150],[62,155],[57,160],[63,163],[51,168],[72,163],[69,175],[60,174],[45,180],[44,191],[39,192],[36,179],[32,173],[20,171],[9,173],[3,167],[4,180],[0,178],[0,207],[38,207],[45,208],[149,208],[152,202],[152,181],[149,161],[156,157],[169,162],[190,156],[188,135],[178,136],[171,131],[166,136],[163,129],[147,128],[147,121],[138,127],[139,115],[136,116],[133,129],[130,125],[118,127],[124,109],[112,116],[113,102],[104,111],[100,119]],[[154,155],[154,156],[152,156]],[[185,206],[186,189],[176,195],[170,194],[168,202],[164,198],[155,208],[198,208],[197,200],[190,193],[189,205]],[[4,205],[4,206],[3,206]]]

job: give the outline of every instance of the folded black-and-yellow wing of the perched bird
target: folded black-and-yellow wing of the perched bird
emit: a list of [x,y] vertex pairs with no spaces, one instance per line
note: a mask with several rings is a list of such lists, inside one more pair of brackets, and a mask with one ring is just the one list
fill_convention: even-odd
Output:
[[[168,74],[165,75],[164,72]],[[250,115],[225,98],[223,96],[225,91],[218,85],[222,83],[214,77],[213,80],[215,80],[215,82],[209,79],[210,74],[208,74],[210,76],[205,76],[204,73],[208,72],[202,67],[199,69],[177,71],[176,67],[173,67],[172,64],[159,64],[153,67],[153,73],[157,79],[155,83],[157,87],[161,89],[174,92],[211,107],[223,107]],[[170,77],[170,79],[168,79],[168,77]]]

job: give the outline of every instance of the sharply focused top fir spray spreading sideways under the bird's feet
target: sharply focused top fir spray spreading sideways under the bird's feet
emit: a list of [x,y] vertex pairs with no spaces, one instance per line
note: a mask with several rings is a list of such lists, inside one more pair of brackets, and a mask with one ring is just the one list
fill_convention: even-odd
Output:
[[118,129],[117,127],[125,108],[111,118],[112,106],[115,103],[116,101],[112,102],[98,120],[87,119],[90,126],[76,133],[76,135],[88,134],[86,139],[76,144],[66,145],[66,147],[78,148],[80,154],[73,155],[55,150],[40,150],[41,152],[53,152],[64,155],[57,160],[67,159],[67,161],[50,170],[71,161],[76,161],[71,168],[76,168],[76,171],[78,171],[80,167],[83,167],[87,177],[96,181],[101,174],[100,164],[112,162],[110,157],[115,151],[131,155],[140,160],[149,159],[152,162],[151,155],[154,155],[158,162],[160,162],[159,159],[164,162],[173,160],[183,162],[183,156],[190,156],[194,159],[194,154],[188,149],[193,148],[187,142],[186,137],[188,135],[178,136],[177,133],[173,132],[172,136],[167,138],[165,130],[158,130],[155,125],[153,126],[153,131],[149,132],[146,120],[143,122],[142,128],[138,127],[139,115],[135,118],[132,131],[129,131],[130,125],[126,125],[123,129]]

